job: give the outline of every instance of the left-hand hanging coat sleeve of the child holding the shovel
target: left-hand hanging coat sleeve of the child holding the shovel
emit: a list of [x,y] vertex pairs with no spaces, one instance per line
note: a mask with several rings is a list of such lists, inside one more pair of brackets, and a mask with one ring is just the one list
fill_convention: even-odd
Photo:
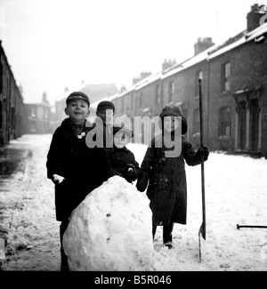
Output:
[[148,187],[148,183],[150,181],[150,168],[153,165],[154,161],[154,149],[148,148],[143,158],[141,165],[141,172],[137,179],[136,188],[143,192]]

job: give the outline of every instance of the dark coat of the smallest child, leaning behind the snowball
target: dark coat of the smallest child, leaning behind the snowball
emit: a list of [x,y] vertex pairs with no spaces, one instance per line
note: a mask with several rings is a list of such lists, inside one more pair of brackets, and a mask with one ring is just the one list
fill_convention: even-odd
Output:
[[134,158],[134,154],[127,148],[109,149],[109,158],[114,173],[125,178],[126,181],[132,183],[141,173],[139,164]]

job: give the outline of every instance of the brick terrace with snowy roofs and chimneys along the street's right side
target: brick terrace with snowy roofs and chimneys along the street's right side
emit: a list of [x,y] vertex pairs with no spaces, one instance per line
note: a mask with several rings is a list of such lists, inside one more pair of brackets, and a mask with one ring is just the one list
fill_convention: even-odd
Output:
[[204,141],[211,150],[267,157],[267,23],[255,4],[247,28],[223,44],[198,38],[195,54],[182,63],[166,60],[158,73],[106,98],[117,116],[158,116],[177,105],[186,117],[187,138],[199,145],[198,79],[202,79]]

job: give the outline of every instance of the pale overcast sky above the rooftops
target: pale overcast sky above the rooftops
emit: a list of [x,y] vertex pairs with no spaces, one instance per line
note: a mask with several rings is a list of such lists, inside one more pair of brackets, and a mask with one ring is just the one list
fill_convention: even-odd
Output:
[[222,43],[255,3],[267,0],[0,0],[0,36],[25,102],[45,91],[53,105],[82,81],[130,86],[192,56],[198,37]]

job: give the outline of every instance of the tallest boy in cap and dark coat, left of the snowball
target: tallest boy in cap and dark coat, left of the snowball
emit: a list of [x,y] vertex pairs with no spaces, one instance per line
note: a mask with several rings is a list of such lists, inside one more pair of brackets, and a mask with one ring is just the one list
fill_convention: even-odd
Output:
[[92,129],[92,125],[86,125],[90,113],[87,95],[72,92],[66,104],[65,113],[69,117],[53,133],[46,162],[47,177],[55,184],[56,219],[61,221],[61,270],[69,269],[62,237],[71,212],[113,174],[106,150],[89,149],[85,143],[86,133]]

